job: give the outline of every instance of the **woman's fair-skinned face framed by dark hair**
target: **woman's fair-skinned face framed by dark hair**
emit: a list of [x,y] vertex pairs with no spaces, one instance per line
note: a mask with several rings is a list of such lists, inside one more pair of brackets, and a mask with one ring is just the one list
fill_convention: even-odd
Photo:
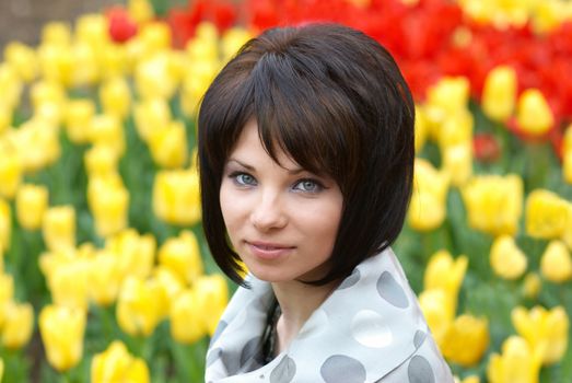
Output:
[[341,217],[341,190],[327,176],[265,151],[256,120],[244,127],[223,172],[226,230],[253,275],[269,282],[315,280],[327,272]]

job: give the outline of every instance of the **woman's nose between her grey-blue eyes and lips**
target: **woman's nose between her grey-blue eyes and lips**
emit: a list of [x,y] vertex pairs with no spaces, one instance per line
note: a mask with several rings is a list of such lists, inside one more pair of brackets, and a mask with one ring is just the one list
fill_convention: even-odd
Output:
[[283,201],[275,192],[264,192],[250,214],[253,225],[259,231],[281,229],[288,223]]

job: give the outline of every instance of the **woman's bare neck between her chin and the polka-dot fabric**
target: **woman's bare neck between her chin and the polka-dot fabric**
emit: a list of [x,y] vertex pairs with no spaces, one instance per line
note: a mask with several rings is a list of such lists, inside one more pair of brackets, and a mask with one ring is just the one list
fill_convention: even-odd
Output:
[[275,353],[282,352],[300,333],[312,313],[331,294],[339,282],[311,286],[299,281],[272,283],[282,314],[277,323],[278,341]]

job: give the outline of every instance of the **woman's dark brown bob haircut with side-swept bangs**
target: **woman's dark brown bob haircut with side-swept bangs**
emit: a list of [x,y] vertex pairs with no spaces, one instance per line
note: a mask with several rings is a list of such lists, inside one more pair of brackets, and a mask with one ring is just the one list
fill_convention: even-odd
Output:
[[345,278],[395,241],[411,195],[415,104],[385,48],[337,24],[277,27],[247,42],[208,89],[198,117],[203,230],[219,267],[242,286],[219,196],[250,118],[277,163],[283,151],[342,193],[329,271],[308,283]]

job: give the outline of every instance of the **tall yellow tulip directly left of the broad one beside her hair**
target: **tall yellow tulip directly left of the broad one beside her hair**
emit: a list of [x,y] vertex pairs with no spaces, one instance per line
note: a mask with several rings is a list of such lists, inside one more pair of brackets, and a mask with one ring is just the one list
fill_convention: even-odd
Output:
[[108,179],[96,177],[87,184],[87,202],[95,221],[95,232],[101,237],[116,234],[128,225],[129,192],[122,183]]

